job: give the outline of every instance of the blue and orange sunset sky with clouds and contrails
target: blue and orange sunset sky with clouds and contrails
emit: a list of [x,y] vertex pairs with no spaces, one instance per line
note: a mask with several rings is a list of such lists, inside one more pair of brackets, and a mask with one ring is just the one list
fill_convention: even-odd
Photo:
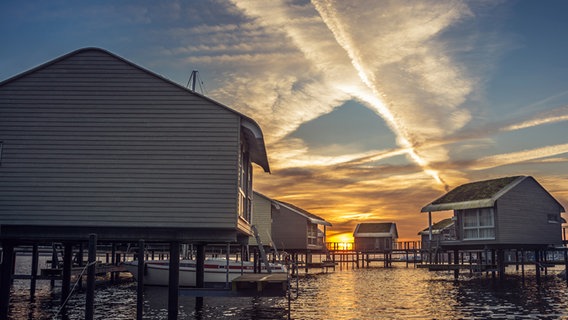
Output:
[[[261,126],[254,188],[333,224],[428,226],[461,184],[530,175],[568,208],[568,1],[0,2],[0,81],[100,47]],[[433,213],[434,221],[449,213]]]

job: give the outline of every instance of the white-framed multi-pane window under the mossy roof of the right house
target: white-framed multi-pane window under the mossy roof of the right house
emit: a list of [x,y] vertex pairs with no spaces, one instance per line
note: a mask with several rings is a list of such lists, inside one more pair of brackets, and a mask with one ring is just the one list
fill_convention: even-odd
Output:
[[495,239],[493,208],[464,210],[463,232],[464,240]]

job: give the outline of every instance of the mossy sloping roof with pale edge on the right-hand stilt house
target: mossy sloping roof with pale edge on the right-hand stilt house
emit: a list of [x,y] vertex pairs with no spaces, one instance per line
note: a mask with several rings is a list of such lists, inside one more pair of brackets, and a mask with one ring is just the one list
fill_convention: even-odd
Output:
[[422,212],[492,207],[502,195],[523,180],[532,177],[513,176],[471,182],[461,185],[422,208]]

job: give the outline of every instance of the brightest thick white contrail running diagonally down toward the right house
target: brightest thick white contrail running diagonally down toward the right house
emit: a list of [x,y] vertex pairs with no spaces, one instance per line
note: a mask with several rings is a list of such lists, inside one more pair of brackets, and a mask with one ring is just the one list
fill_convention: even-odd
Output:
[[410,159],[418,164],[426,174],[432,176],[432,178],[434,178],[436,182],[443,184],[447,189],[448,186],[440,178],[438,171],[431,168],[429,163],[416,153],[414,145],[408,138],[410,135],[406,128],[404,128],[404,126],[396,120],[394,114],[389,110],[385,103],[381,101],[380,98],[378,98],[381,96],[381,94],[374,84],[375,79],[370,79],[365,72],[365,68],[363,67],[363,63],[359,58],[359,54],[355,47],[351,44],[351,41],[348,39],[347,32],[345,32],[345,29],[339,22],[339,19],[337,19],[337,15],[332,4],[325,0],[312,0],[312,4],[319,12],[323,22],[332,32],[337,43],[345,50],[345,52],[349,56],[353,67],[357,70],[357,74],[359,75],[363,83],[373,92],[374,97],[367,96],[362,98],[370,103],[376,109],[379,115],[385,120],[387,125],[397,136],[397,143],[403,149],[408,150],[407,154],[409,155]]

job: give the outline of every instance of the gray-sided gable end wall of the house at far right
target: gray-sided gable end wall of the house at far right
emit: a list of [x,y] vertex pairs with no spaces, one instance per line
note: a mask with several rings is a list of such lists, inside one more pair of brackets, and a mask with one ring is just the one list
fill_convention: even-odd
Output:
[[560,215],[560,208],[533,179],[497,200],[496,208],[499,243],[561,244],[561,224],[548,222],[548,214]]

